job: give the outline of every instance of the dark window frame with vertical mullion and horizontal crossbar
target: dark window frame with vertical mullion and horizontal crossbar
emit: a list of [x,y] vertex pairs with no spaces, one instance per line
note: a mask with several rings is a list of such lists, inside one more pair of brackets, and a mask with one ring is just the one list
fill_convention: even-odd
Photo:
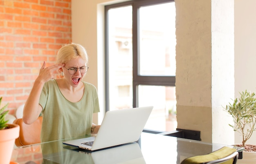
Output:
[[105,6],[105,89],[106,111],[109,111],[109,58],[108,58],[108,10],[118,7],[132,6],[132,94],[133,107],[138,107],[138,86],[175,86],[175,76],[139,75],[139,8],[173,2],[174,0],[131,0]]

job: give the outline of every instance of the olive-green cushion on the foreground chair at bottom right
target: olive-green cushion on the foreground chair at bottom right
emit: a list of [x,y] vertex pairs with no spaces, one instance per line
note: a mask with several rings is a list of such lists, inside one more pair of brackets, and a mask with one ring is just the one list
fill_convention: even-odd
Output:
[[[207,155],[198,155],[194,157],[188,157],[185,160],[183,160],[181,164],[202,164],[204,162],[210,162],[213,160],[218,160],[218,159],[227,157],[228,155],[234,153],[235,151],[236,149],[234,148],[223,147]],[[232,163],[233,163],[233,159],[228,160],[227,162],[223,162],[222,164],[232,164]]]

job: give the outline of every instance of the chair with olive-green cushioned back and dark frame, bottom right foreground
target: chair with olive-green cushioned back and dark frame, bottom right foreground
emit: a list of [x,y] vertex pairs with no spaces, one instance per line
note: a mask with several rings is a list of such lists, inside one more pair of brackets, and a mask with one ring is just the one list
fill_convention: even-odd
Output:
[[206,155],[188,157],[181,164],[236,164],[237,159],[236,149],[225,146]]

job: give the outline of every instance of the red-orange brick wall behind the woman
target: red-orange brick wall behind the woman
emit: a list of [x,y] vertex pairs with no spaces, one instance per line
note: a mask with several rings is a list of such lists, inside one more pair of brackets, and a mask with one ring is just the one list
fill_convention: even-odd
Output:
[[[71,42],[71,0],[0,0],[0,97],[14,114],[39,69]],[[1,107],[0,106],[0,107]]]

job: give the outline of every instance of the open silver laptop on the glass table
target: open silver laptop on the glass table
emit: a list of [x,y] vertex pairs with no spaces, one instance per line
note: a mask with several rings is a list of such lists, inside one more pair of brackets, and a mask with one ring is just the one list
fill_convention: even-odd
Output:
[[96,151],[139,140],[153,106],[107,111],[94,137],[65,141],[63,144]]

